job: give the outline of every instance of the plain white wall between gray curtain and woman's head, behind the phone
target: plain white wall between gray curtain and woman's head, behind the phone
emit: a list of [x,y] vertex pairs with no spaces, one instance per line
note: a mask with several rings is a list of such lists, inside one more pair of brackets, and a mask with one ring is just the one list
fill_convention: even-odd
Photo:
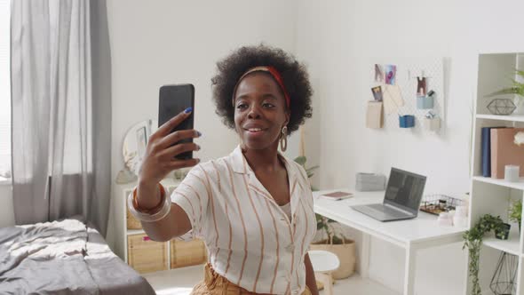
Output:
[[[216,62],[241,45],[260,44],[291,51],[294,2],[271,1],[107,1],[112,63],[112,175],[123,168],[125,132],[156,118],[163,84],[195,84],[195,128],[202,161],[228,155],[238,144],[215,114],[210,78]],[[298,148],[297,137],[290,149]],[[111,228],[108,235],[111,235]],[[111,243],[113,237],[108,236]]]

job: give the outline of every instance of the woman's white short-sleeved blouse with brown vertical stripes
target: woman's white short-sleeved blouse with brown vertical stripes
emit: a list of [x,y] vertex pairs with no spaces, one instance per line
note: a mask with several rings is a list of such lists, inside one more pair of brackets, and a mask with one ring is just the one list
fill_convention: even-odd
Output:
[[195,166],[171,195],[191,220],[182,238],[199,237],[213,269],[257,293],[300,294],[306,288],[304,256],[316,232],[306,171],[284,159],[290,181],[291,219],[258,181],[240,147]]

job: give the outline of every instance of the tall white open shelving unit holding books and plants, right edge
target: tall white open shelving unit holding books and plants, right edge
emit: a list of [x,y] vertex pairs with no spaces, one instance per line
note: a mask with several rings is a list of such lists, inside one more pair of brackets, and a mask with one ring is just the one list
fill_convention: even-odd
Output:
[[[478,80],[475,100],[472,138],[472,183],[470,200],[469,225],[472,227],[482,215],[500,216],[508,222],[508,210],[513,201],[523,198],[524,178],[519,182],[508,182],[504,179],[491,179],[482,176],[481,163],[481,128],[488,126],[524,127],[524,115],[496,116],[489,114],[488,103],[494,98],[486,95],[496,90],[508,87],[511,83],[512,71],[523,68],[523,53],[490,53],[480,54],[478,60]],[[504,98],[504,97],[499,97]],[[505,98],[512,98],[506,96]],[[524,167],[520,167],[524,169]],[[524,239],[519,225],[512,224],[508,240],[496,239],[493,234],[483,240],[480,251],[480,288],[482,293],[490,294],[489,283],[495,272],[496,262],[501,251],[516,255],[519,260],[517,270],[517,294],[524,295]],[[469,272],[469,271],[468,271]],[[467,275],[466,294],[471,294],[472,283]]]

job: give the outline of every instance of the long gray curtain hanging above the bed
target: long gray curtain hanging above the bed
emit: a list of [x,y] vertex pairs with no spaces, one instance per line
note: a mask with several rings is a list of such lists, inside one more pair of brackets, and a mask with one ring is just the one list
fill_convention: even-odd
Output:
[[105,1],[12,1],[17,224],[82,215],[106,234],[111,192]]

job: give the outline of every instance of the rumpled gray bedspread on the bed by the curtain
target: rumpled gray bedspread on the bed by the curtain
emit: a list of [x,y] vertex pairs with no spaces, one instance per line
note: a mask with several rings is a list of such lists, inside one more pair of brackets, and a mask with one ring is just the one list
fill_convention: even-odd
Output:
[[0,294],[155,294],[77,219],[0,228]]

